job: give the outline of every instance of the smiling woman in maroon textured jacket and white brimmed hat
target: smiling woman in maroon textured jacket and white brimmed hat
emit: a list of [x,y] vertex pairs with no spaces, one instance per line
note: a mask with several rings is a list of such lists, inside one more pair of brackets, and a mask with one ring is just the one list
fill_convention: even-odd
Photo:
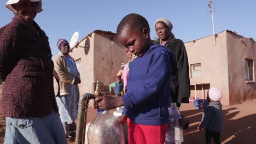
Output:
[[13,20],[0,28],[0,80],[4,81],[4,143],[67,143],[54,95],[48,37],[34,21],[40,0],[9,0]]

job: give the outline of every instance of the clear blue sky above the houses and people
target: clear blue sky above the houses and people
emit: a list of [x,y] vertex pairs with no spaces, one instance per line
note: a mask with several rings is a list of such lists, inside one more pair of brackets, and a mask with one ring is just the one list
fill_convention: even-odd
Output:
[[[0,0],[0,27],[7,25],[14,14]],[[255,0],[213,0],[215,33],[228,29],[256,40]],[[70,41],[74,32],[79,39],[100,29],[116,32],[118,23],[130,13],[144,16],[150,26],[150,36],[156,37],[154,22],[165,17],[172,22],[175,37],[184,42],[213,34],[208,0],[43,0],[44,10],[35,19],[49,37],[53,56],[59,52],[57,39]]]

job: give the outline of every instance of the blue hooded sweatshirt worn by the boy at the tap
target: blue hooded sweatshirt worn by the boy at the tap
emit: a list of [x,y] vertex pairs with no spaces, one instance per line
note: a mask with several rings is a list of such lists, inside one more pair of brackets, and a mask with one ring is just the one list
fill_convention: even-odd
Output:
[[168,119],[173,53],[162,45],[152,45],[130,66],[127,93],[122,95],[123,113],[134,123],[162,125]]

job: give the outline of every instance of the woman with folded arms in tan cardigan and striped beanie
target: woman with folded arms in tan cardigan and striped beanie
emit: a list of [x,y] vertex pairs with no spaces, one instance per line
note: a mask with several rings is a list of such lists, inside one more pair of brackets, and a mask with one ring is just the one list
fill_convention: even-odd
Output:
[[[77,119],[80,74],[74,59],[68,55],[70,47],[66,39],[57,40],[57,48],[60,50],[54,58],[54,69],[60,77],[60,97],[56,97],[59,113],[66,137],[75,136],[74,119]],[[57,95],[57,85],[55,94]]]

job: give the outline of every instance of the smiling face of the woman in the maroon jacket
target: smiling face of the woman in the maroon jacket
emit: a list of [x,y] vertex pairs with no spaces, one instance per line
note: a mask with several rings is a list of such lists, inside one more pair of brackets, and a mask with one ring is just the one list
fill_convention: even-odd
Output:
[[30,0],[20,0],[13,7],[17,10],[18,15],[28,21],[33,22],[37,15],[38,2],[30,2]]

